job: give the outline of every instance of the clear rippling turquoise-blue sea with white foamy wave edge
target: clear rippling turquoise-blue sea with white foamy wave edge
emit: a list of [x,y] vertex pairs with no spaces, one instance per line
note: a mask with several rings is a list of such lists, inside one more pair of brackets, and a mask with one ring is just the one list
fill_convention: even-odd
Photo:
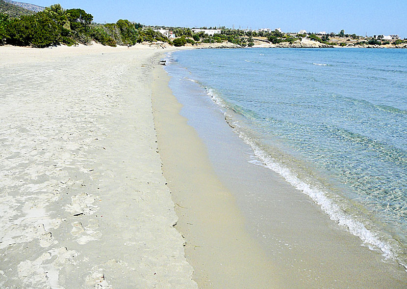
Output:
[[406,266],[406,50],[208,49],[168,61],[263,166]]

